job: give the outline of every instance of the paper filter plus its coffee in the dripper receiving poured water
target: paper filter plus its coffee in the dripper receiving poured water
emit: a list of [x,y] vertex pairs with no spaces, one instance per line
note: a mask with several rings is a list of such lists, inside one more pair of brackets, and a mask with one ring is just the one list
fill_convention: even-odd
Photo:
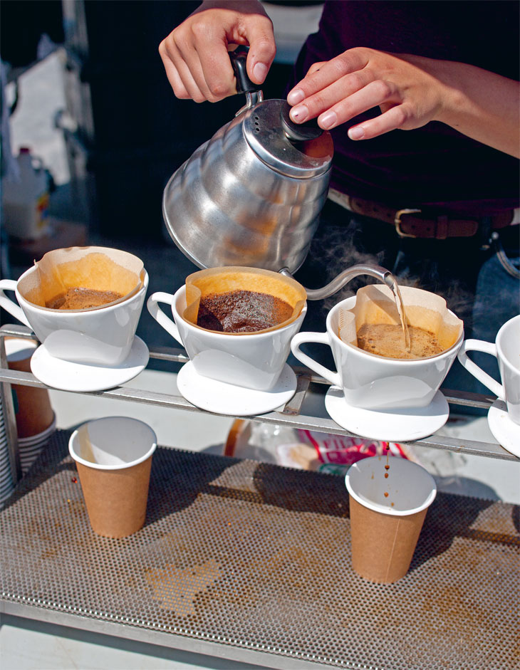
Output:
[[448,310],[444,298],[420,288],[402,286],[400,290],[410,350],[405,347],[395,296],[387,286],[358,290],[355,306],[339,315],[340,340],[375,355],[411,360],[436,356],[459,340],[462,320]]

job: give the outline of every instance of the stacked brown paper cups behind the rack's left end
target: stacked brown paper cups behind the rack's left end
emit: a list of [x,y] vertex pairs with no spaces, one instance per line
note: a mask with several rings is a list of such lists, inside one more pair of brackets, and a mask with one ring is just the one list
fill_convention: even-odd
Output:
[[[38,342],[6,337],[7,364],[11,370],[31,372],[31,356]],[[16,429],[22,473],[26,473],[56,430],[56,417],[47,389],[13,384],[16,394]]]

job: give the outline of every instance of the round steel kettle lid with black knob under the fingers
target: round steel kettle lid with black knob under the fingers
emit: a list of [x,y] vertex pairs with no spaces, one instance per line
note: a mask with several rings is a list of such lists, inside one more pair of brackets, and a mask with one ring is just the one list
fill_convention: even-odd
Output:
[[334,152],[330,132],[322,132],[317,125],[316,130],[291,130],[288,108],[286,100],[273,99],[244,110],[246,142],[266,165],[286,177],[309,179],[324,174],[331,168]]

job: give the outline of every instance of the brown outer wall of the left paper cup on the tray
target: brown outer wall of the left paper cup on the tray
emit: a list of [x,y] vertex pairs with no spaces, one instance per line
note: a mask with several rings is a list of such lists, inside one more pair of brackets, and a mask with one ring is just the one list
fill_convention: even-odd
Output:
[[96,470],[76,463],[94,533],[125,538],[145,525],[152,456],[124,470]]

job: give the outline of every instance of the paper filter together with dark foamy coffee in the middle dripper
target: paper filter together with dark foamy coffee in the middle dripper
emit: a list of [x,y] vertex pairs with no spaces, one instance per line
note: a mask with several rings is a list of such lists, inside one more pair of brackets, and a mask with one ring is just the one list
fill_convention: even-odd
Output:
[[296,320],[306,302],[296,280],[261,268],[227,266],[186,278],[183,318],[221,333],[266,333]]

